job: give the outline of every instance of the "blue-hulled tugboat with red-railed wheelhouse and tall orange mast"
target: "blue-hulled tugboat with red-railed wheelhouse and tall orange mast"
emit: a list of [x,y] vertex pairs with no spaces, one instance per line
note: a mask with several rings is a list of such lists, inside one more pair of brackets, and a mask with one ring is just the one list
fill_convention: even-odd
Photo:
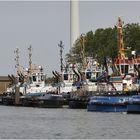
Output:
[[[88,111],[126,112],[127,100],[132,95],[138,94],[140,89],[138,79],[140,58],[135,56],[134,51],[132,51],[131,58],[126,57],[126,52],[130,50],[124,48],[122,21],[120,17],[118,18],[118,50],[118,58],[115,58],[113,61],[113,68],[117,71],[118,75],[110,76],[109,80],[104,82],[102,88],[107,93],[114,93],[115,96],[107,94],[99,97],[90,97],[87,106]],[[123,94],[118,95],[117,92]],[[120,103],[120,101],[122,102]]]

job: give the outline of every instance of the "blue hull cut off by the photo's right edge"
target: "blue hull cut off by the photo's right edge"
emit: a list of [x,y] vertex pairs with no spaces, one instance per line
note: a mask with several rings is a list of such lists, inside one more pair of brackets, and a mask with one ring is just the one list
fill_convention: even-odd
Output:
[[140,95],[134,95],[129,98],[127,113],[140,113]]

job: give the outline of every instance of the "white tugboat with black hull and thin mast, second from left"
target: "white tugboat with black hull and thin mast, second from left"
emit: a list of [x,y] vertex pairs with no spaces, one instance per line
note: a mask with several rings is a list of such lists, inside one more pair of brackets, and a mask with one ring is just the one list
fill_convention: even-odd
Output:
[[56,87],[46,85],[46,74],[41,66],[32,66],[29,48],[29,70],[25,84],[25,95],[20,97],[23,106],[58,108],[63,106],[64,98],[58,95]]

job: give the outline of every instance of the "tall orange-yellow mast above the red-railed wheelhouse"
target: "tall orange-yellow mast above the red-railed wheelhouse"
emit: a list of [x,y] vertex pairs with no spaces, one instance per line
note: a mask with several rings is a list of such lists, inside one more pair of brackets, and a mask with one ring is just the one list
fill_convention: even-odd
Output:
[[123,42],[123,22],[121,20],[121,18],[118,18],[118,25],[117,25],[117,29],[118,29],[118,58],[125,58],[125,49],[124,49],[124,42]]

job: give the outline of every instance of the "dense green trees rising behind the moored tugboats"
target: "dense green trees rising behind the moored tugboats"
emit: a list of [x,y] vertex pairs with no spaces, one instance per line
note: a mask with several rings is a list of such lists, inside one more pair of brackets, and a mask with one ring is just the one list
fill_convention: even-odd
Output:
[[[97,59],[100,64],[104,62],[104,57],[116,58],[118,56],[118,33],[116,26],[113,28],[98,28],[95,32],[89,31],[83,38],[79,37],[71,48],[70,53],[66,54],[66,61],[68,63],[82,62],[81,52],[83,43],[85,56]],[[140,25],[138,23],[124,25],[123,40],[125,48],[135,50],[136,54],[140,55]]]

